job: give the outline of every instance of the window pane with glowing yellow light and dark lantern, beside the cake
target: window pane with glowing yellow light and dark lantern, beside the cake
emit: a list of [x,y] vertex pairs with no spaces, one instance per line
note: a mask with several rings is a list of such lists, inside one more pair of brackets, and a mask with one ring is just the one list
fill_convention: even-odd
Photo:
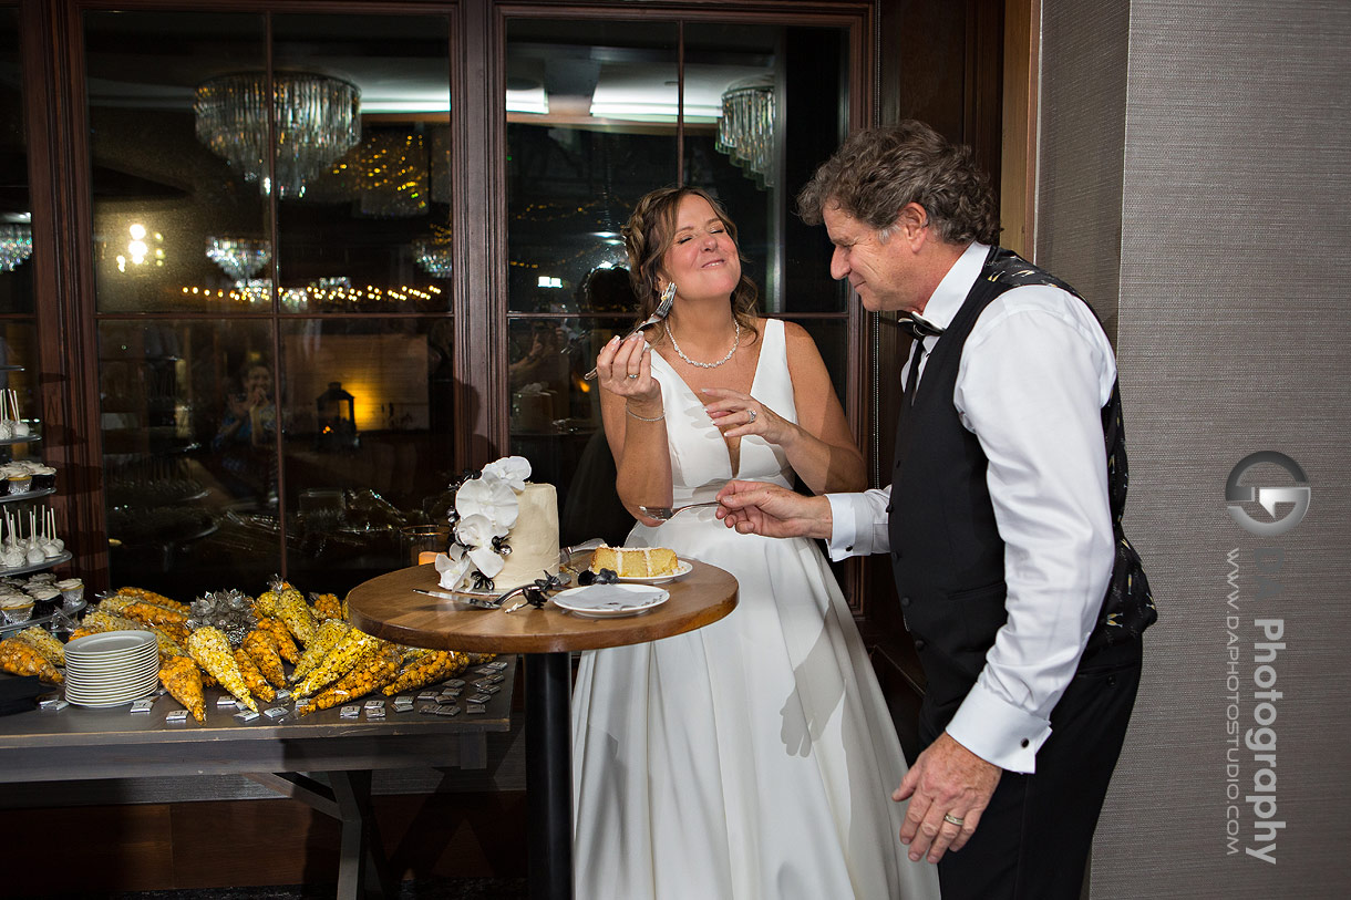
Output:
[[343,593],[408,565],[400,528],[444,520],[451,319],[286,319],[286,572]]

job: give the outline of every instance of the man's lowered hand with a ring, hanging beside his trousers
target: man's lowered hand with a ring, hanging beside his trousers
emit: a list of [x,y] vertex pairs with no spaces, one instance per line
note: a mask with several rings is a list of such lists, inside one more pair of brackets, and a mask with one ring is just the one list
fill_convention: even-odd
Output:
[[966,846],[1002,773],[946,731],[940,734],[892,793],[897,803],[911,799],[901,826],[901,843],[909,845],[911,859],[928,854],[929,862],[938,862],[948,850]]

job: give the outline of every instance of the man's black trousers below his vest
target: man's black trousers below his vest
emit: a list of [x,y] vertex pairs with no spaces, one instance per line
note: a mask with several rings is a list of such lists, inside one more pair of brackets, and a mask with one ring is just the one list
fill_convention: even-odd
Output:
[[1005,772],[975,834],[938,864],[943,900],[1078,900],[1140,659],[1136,639],[1079,664],[1051,712],[1036,772]]

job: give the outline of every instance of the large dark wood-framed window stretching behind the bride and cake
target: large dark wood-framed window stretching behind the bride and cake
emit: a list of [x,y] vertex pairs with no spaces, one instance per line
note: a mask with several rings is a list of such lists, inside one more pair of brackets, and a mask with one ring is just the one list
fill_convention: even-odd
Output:
[[[871,118],[871,4],[9,9],[42,149],[34,357],[91,584],[342,592],[505,453],[592,536],[577,376],[627,323],[615,231],[662,184],[723,196],[862,438],[865,323],[792,196]],[[777,104],[740,165],[734,88]]]

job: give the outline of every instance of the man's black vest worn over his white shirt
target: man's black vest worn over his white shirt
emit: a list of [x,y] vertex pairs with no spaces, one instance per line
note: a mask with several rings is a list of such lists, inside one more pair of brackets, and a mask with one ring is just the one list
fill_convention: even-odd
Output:
[[[952,392],[962,347],[981,312],[1011,288],[1069,285],[1009,250],[992,247],[979,278],[924,365],[915,403],[901,409],[892,473],[892,565],[905,627],[927,680],[924,739],[934,736],[985,668],[985,654],[1008,620],[1004,541],[986,486],[989,459],[962,426]],[[1082,300],[1082,297],[1081,297]],[[1104,465],[1116,536],[1116,564],[1084,658],[1138,638],[1156,618],[1140,557],[1121,532],[1127,459],[1117,385],[1102,408]]]

